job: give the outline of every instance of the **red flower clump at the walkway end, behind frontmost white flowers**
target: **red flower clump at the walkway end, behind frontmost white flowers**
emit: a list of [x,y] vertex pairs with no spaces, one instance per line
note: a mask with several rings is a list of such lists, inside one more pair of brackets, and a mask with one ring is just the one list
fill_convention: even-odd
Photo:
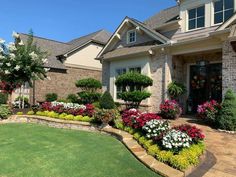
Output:
[[174,127],[174,129],[186,133],[189,137],[192,138],[194,143],[204,140],[205,135],[202,133],[202,130],[196,126],[191,126],[188,124],[180,125]]

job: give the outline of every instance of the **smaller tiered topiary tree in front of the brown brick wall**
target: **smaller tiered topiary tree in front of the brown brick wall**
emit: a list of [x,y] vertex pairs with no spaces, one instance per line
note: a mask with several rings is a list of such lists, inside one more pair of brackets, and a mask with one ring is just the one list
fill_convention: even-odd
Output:
[[102,88],[100,81],[87,78],[78,80],[75,85],[81,90],[78,95],[82,103],[91,104],[99,100],[101,94],[98,90]]

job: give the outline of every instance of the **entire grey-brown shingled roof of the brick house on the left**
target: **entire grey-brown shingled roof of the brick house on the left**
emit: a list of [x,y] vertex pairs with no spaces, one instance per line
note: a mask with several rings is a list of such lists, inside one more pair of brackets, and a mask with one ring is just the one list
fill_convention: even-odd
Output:
[[[48,53],[48,64],[46,64],[45,67],[65,69],[63,63],[58,60],[58,56],[70,53],[70,51],[77,49],[88,42],[95,42],[101,45],[105,45],[110,36],[111,34],[109,32],[105,30],[99,30],[97,32],[82,36],[67,43],[34,36],[34,43],[36,43],[36,45],[43,51]],[[26,43],[28,34],[20,33],[20,38],[24,43]]]

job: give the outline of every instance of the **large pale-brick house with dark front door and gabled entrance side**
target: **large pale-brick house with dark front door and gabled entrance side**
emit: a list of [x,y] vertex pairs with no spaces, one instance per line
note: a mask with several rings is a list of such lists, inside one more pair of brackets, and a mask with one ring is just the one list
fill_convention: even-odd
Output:
[[103,64],[103,86],[115,101],[122,88],[115,78],[139,71],[153,79],[151,98],[142,102],[152,111],[168,98],[172,81],[187,93],[182,106],[196,111],[206,100],[222,100],[236,91],[236,0],[180,0],[144,22],[126,17],[97,59]]

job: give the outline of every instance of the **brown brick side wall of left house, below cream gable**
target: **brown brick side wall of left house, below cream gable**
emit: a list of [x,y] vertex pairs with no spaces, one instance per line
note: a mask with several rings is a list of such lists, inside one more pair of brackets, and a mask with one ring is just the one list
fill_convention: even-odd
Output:
[[[67,67],[66,71],[51,69],[48,78],[35,82],[35,100],[44,101],[47,93],[57,93],[58,98],[66,98],[79,90],[75,82],[79,79],[92,77],[101,81],[101,71]],[[33,89],[30,90],[30,100],[33,102]]]

